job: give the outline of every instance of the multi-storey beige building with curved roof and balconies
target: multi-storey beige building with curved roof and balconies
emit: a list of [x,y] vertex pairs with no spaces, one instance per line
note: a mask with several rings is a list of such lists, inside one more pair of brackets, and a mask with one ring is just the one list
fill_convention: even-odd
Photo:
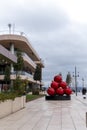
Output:
[[36,81],[33,77],[37,66],[40,66],[42,73],[44,64],[28,39],[20,33],[0,35],[0,88],[3,88],[5,84],[4,71],[7,65],[11,67],[11,81],[16,79],[16,70],[13,64],[17,62],[16,53],[18,50],[21,51],[24,62],[23,70],[20,72],[21,79],[27,79],[29,89],[42,86],[42,80]]

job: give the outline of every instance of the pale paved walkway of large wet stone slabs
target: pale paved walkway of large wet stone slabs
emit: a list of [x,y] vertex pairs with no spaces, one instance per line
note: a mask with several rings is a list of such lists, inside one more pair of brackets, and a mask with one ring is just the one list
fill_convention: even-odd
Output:
[[40,98],[26,108],[0,119],[0,130],[87,130],[87,98],[72,95],[70,101]]

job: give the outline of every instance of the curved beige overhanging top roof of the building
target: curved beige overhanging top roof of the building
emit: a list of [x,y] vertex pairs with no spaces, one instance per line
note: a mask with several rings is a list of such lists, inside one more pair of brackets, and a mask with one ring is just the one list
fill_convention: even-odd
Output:
[[33,49],[28,39],[22,35],[5,34],[0,35],[0,44],[6,48],[10,48],[10,43],[14,43],[14,47],[21,49],[33,60],[38,61],[40,57]]

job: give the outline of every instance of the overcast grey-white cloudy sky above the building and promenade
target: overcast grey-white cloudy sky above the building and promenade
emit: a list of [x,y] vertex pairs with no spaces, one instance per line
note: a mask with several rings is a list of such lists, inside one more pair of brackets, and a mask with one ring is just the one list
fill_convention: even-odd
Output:
[[[23,32],[43,60],[43,81],[77,68],[77,82],[87,86],[87,0],[0,0],[0,34],[11,23]],[[74,80],[74,79],[73,79]]]

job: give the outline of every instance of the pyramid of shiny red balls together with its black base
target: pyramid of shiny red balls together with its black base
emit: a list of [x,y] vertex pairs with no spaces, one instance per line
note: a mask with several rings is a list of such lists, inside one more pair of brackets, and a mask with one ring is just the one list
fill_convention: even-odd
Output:
[[54,76],[54,80],[51,82],[50,87],[47,89],[46,99],[48,100],[70,100],[72,90],[67,83],[62,80],[61,75]]

